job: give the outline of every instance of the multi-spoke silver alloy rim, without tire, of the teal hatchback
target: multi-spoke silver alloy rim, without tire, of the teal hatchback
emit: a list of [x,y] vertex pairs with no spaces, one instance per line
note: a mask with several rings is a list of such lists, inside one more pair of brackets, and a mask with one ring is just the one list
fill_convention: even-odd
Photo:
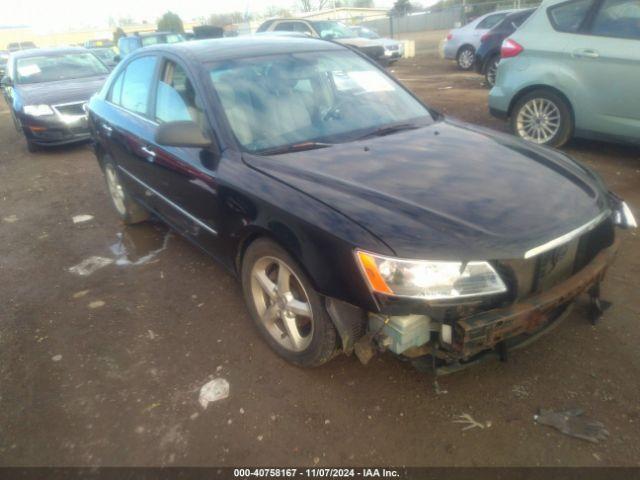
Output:
[[562,118],[558,106],[547,98],[533,98],[518,111],[518,135],[530,142],[544,144],[560,131]]

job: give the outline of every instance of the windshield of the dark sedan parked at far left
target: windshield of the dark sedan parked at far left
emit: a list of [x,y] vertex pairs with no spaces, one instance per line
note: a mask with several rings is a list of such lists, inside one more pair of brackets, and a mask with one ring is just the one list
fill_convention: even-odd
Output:
[[16,83],[42,83],[107,75],[109,69],[92,53],[65,53],[19,58]]

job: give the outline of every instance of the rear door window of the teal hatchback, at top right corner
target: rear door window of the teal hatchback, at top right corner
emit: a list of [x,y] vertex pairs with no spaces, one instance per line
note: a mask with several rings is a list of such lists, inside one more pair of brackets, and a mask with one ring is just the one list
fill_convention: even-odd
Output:
[[604,0],[591,33],[640,40],[640,0]]

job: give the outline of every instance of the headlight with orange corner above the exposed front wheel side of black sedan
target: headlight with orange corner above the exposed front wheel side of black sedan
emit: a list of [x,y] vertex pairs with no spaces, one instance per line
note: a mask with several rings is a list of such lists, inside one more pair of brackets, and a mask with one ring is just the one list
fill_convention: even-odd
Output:
[[356,258],[371,290],[386,295],[442,300],[507,291],[488,262],[402,260],[360,250]]

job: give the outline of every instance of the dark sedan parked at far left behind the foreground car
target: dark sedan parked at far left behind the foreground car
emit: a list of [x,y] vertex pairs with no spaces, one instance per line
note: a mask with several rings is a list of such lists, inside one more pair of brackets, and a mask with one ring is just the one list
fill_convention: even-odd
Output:
[[84,105],[109,69],[84,48],[12,53],[2,87],[29,151],[90,138]]

